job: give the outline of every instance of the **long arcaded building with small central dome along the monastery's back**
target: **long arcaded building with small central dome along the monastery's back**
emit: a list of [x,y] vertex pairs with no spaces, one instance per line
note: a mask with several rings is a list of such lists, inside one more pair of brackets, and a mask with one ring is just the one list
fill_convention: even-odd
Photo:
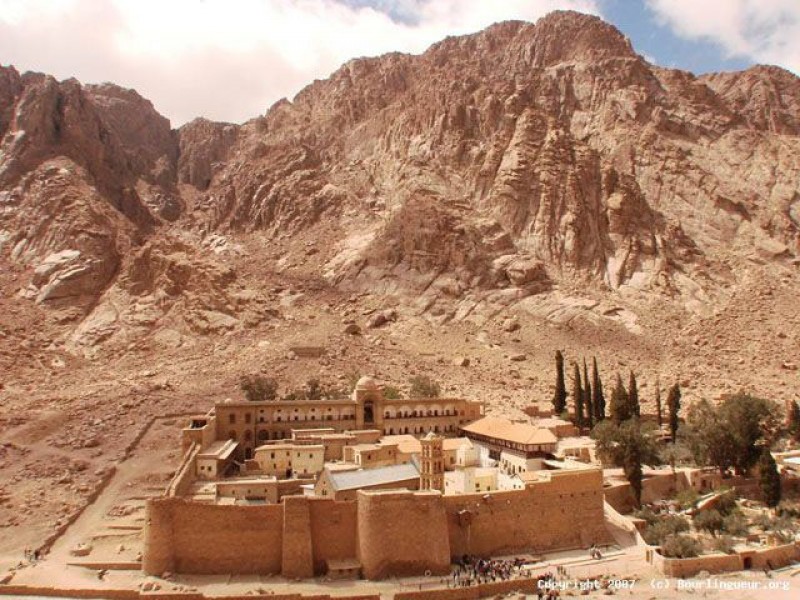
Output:
[[383,386],[362,377],[351,397],[322,400],[248,402],[226,400],[184,429],[184,450],[197,443],[237,443],[234,458],[253,457],[258,446],[291,437],[293,429],[325,428],[334,432],[376,429],[384,435],[455,435],[459,428],[479,419],[483,405],[460,398],[388,399]]

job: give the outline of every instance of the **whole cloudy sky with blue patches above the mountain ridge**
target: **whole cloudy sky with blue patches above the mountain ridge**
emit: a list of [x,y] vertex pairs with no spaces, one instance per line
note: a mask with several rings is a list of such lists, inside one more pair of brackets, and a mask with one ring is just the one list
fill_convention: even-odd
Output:
[[0,64],[134,88],[173,126],[242,122],[351,58],[556,9],[603,17],[661,66],[800,74],[800,0],[0,0]]

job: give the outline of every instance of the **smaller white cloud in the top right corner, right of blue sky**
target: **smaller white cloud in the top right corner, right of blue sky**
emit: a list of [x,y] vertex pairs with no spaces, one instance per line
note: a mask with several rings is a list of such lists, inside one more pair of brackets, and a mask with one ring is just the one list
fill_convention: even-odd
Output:
[[711,40],[729,56],[800,74],[798,0],[647,0],[647,5],[681,37]]

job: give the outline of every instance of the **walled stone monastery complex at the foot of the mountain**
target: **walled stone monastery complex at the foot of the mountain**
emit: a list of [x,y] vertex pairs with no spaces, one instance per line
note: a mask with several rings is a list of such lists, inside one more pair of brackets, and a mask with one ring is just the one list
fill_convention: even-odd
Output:
[[148,501],[143,570],[380,579],[606,543],[602,471],[574,434],[390,400],[370,377],[344,400],[220,402]]

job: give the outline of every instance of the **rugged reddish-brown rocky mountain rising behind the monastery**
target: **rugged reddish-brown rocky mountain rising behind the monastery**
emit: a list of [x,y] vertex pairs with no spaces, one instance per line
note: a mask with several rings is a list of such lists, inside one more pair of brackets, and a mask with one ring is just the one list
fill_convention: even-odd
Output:
[[352,60],[242,125],[173,130],[133,90],[0,68],[2,339],[45,340],[25,373],[191,355],[301,296],[335,322],[368,295],[577,328],[564,344],[616,361],[608,331],[676,374],[731,327],[747,363],[747,299],[797,286],[799,135],[794,75],[665,69],[572,12]]

